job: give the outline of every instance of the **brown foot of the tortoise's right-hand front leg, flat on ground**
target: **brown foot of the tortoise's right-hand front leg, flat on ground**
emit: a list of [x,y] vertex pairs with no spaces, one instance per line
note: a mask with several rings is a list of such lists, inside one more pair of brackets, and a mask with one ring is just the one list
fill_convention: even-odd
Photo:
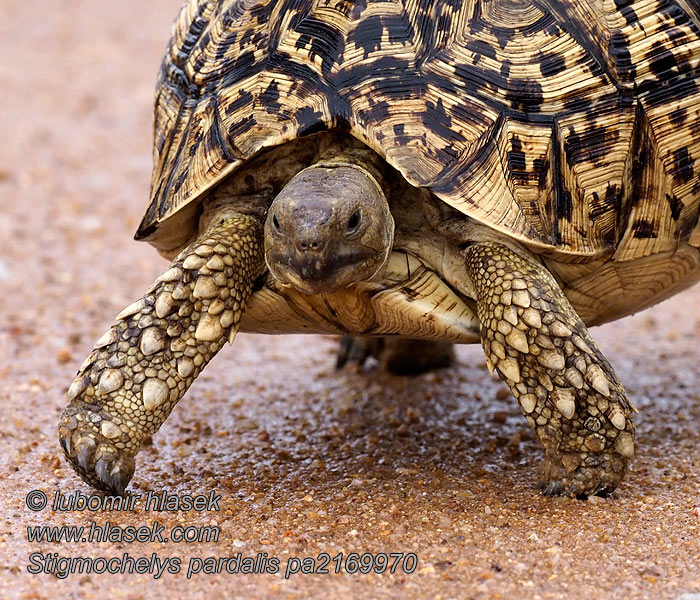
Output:
[[628,462],[615,452],[548,454],[539,488],[544,496],[609,496],[622,481]]

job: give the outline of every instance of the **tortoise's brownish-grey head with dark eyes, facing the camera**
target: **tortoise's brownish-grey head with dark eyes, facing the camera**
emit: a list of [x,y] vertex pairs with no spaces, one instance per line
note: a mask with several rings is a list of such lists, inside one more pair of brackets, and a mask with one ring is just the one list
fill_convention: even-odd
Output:
[[356,165],[314,165],[277,195],[265,221],[265,260],[282,284],[333,292],[383,272],[394,219],[376,179]]

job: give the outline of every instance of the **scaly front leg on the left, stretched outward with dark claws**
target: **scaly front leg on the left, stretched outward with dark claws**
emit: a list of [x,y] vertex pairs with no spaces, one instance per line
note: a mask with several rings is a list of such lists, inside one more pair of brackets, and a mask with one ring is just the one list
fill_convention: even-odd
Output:
[[68,390],[59,439],[73,468],[98,489],[124,491],[143,439],[233,340],[264,270],[257,220],[229,213],[213,223],[117,316]]

